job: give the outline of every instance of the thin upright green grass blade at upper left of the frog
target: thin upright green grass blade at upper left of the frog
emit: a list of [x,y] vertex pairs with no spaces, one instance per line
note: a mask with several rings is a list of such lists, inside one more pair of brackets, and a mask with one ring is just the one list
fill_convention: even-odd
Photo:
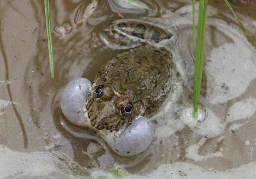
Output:
[[52,53],[49,0],[44,0],[44,8],[45,8],[46,30],[47,30],[48,50],[49,50],[49,64],[50,64],[51,78],[54,79],[54,64],[53,64],[53,53]]

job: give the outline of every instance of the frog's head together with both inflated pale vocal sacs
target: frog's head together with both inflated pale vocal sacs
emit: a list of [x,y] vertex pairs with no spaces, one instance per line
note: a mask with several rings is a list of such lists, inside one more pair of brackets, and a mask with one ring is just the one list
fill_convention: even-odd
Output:
[[132,156],[148,148],[154,135],[154,126],[149,119],[139,116],[144,111],[141,101],[133,101],[131,95],[121,95],[109,81],[98,81],[91,86],[91,82],[85,78],[72,80],[61,93],[62,112],[71,123],[89,128],[94,126],[84,115],[86,100],[90,119],[95,119],[95,124],[109,122],[109,125],[103,125],[106,130],[119,122],[128,124],[127,121],[134,120],[116,134],[94,128],[113,151],[122,156]]

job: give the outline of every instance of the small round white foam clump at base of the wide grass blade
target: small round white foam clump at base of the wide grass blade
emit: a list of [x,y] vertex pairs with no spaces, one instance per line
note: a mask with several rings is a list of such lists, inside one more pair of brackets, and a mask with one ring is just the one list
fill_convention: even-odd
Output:
[[197,119],[193,117],[193,107],[184,107],[181,111],[180,118],[182,122],[187,125],[189,128],[197,127],[207,118],[207,111],[205,107],[198,105]]

